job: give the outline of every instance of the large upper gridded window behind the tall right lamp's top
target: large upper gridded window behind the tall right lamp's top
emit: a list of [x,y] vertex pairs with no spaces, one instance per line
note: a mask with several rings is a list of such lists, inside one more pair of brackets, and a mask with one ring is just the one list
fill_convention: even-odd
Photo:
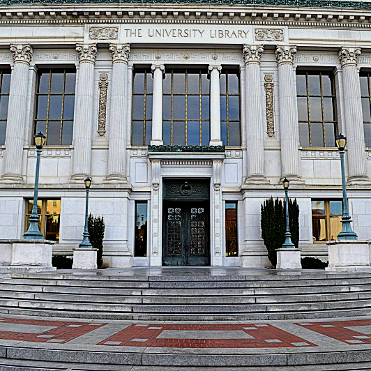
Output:
[[303,147],[334,147],[337,131],[332,73],[298,71],[298,125]]

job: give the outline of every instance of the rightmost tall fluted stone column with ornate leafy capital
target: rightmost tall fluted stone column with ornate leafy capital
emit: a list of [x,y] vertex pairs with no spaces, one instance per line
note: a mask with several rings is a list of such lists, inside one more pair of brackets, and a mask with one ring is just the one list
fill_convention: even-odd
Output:
[[348,180],[351,184],[369,181],[366,175],[361,86],[357,70],[358,56],[360,55],[361,48],[359,47],[342,47],[339,52],[342,65],[345,126],[347,128]]

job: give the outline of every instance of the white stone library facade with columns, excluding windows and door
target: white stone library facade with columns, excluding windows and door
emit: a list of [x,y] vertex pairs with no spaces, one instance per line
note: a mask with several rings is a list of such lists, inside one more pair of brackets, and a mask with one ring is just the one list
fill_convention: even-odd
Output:
[[[6,142],[0,146],[0,239],[19,239],[24,232],[24,199],[32,195],[36,164],[36,74],[44,66],[77,70],[72,145],[46,146],[41,156],[39,197],[61,199],[54,253],[72,255],[82,239],[83,179],[89,175],[90,211],[104,215],[106,223],[105,266],[161,265],[162,181],[202,178],[210,179],[211,265],[267,266],[260,206],[283,196],[280,181],[286,176],[301,211],[301,254],[326,261],[326,245],[312,243],[311,199],[341,198],[340,157],[335,148],[300,146],[297,68],[334,71],[338,131],[348,137],[349,209],[359,238],[370,239],[371,151],[363,135],[358,75],[371,70],[365,13],[167,7],[0,6],[7,15],[0,19],[0,68],[11,68]],[[210,145],[221,144],[220,70],[239,67],[241,146],[222,154],[149,153],[146,146],[132,146],[134,68],[153,71],[151,144],[162,144],[162,74],[168,66],[196,65],[209,68],[211,78]],[[147,201],[149,213],[148,256],[140,258],[134,257],[136,201]],[[238,257],[225,257],[228,201],[238,202]]]

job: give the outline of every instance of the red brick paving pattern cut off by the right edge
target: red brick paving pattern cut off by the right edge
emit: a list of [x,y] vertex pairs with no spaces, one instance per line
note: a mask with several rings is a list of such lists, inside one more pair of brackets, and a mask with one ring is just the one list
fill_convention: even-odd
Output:
[[297,324],[298,326],[308,328],[308,330],[321,333],[346,344],[371,344],[370,334],[361,333],[347,327],[355,326],[371,326],[371,319],[354,319],[351,321],[326,321],[326,322],[310,322]]

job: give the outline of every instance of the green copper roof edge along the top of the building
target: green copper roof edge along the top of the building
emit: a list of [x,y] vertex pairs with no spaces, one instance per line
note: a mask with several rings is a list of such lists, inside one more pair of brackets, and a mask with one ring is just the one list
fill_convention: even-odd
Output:
[[107,4],[107,3],[140,3],[140,4],[213,4],[213,5],[246,5],[246,6],[290,6],[310,8],[352,8],[370,10],[371,3],[364,1],[337,0],[0,0],[1,5],[66,5],[66,4]]

